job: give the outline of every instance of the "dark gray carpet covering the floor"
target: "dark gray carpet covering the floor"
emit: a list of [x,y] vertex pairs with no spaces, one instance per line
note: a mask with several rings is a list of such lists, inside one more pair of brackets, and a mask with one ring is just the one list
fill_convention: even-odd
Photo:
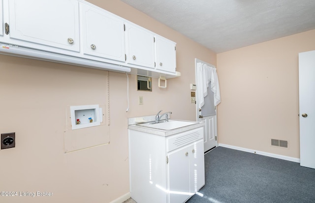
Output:
[[203,197],[187,203],[315,203],[315,169],[299,163],[216,147],[205,173]]

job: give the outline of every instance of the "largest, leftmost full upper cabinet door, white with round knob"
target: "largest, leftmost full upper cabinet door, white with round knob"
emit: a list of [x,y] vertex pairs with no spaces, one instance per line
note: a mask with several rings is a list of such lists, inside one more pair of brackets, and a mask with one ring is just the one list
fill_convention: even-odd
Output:
[[80,49],[77,0],[10,0],[9,17],[10,38],[22,40],[21,46]]

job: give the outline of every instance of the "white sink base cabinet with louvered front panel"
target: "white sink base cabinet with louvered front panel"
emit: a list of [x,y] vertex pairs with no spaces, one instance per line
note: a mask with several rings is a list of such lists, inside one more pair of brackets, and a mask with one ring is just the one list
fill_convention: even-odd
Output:
[[137,203],[184,203],[205,184],[203,127],[169,136],[129,129],[129,164]]

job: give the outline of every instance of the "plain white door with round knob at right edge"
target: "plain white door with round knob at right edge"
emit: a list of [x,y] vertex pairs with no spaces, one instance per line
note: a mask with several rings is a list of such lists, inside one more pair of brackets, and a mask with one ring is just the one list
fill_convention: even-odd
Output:
[[299,53],[300,165],[315,169],[315,51]]

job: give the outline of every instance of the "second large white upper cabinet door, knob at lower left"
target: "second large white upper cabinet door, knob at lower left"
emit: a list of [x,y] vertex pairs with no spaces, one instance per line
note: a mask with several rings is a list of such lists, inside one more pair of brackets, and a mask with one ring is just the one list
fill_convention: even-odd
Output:
[[104,10],[81,5],[84,53],[125,62],[124,22]]

